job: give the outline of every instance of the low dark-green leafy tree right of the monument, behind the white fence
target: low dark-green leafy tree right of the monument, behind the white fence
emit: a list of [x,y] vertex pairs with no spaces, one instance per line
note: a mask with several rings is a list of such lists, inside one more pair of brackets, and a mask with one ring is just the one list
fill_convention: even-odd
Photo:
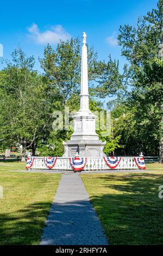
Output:
[[[137,112],[137,106],[131,106],[128,101],[116,102],[111,111],[114,137],[121,136],[121,147],[115,150],[116,155],[134,156],[140,155],[141,152],[146,156],[158,155],[159,127],[153,125],[156,118],[154,109],[151,108],[146,118],[142,112],[141,109]],[[143,119],[140,120],[142,114]]]

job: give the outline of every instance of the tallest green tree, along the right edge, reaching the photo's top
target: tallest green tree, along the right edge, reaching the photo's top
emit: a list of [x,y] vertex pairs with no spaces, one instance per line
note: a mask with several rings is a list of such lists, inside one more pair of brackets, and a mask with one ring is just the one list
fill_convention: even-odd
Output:
[[[140,125],[148,123],[158,130],[152,136],[155,143],[159,137],[160,162],[163,162],[163,64],[159,56],[162,42],[162,0],[158,2],[158,9],[138,19],[136,26],[120,27],[118,43],[122,46],[122,55],[129,61],[128,78],[133,88],[129,96],[130,106],[136,107],[136,120]],[[147,139],[151,139],[150,130]]]

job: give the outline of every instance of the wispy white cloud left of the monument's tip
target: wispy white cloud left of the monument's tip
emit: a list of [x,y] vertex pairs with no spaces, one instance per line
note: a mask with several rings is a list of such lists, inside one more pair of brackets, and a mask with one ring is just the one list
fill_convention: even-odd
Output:
[[57,44],[59,40],[65,41],[71,38],[61,25],[53,26],[51,29],[47,29],[44,32],[40,32],[39,27],[34,23],[28,28],[29,36],[32,38],[36,44]]

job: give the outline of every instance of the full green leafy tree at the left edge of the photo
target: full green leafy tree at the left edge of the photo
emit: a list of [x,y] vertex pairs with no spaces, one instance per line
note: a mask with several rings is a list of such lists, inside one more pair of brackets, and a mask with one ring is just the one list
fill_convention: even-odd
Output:
[[37,75],[34,57],[27,57],[19,48],[12,54],[12,62],[0,72],[0,137],[5,147],[22,145],[22,161],[26,149],[35,154],[37,141],[48,129],[49,104],[46,84]]

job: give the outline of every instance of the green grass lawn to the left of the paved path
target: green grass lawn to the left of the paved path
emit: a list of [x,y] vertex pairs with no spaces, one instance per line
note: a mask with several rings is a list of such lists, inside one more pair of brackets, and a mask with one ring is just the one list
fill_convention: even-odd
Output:
[[37,245],[60,174],[19,173],[26,163],[0,162],[0,245]]

